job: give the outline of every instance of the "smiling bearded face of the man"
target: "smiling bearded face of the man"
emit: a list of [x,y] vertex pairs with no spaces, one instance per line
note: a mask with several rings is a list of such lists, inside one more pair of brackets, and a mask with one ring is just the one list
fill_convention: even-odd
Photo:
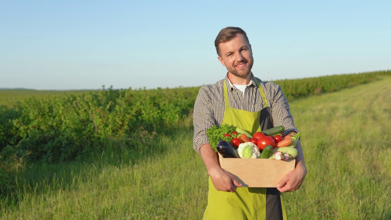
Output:
[[254,63],[253,52],[251,45],[242,34],[237,34],[230,41],[220,43],[219,49],[221,54],[219,60],[228,72],[237,77],[244,77],[250,73]]

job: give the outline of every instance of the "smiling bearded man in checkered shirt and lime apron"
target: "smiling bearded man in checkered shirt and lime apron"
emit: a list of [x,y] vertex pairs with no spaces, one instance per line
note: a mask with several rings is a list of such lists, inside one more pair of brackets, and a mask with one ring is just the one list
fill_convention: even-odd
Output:
[[253,76],[253,52],[242,29],[222,29],[215,47],[228,73],[214,85],[200,88],[193,114],[194,149],[201,154],[210,176],[204,219],[286,219],[280,192],[300,188],[307,174],[300,141],[296,146],[299,155],[295,169],[285,175],[276,188],[245,188],[219,166],[206,130],[215,124],[227,123],[252,133],[280,125],[285,127],[285,134],[298,132],[287,99],[280,86]]

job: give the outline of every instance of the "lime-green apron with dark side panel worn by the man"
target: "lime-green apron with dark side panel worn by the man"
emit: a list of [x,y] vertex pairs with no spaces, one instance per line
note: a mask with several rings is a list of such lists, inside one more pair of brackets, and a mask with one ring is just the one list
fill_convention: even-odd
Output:
[[[256,81],[265,106],[259,112],[248,112],[230,108],[228,90],[224,82],[224,117],[222,123],[237,126],[250,133],[259,132],[273,127],[270,108],[262,87]],[[254,171],[261,168],[252,168]],[[209,177],[208,206],[204,220],[286,220],[280,192],[276,188],[247,188],[238,187],[235,193],[217,191]]]

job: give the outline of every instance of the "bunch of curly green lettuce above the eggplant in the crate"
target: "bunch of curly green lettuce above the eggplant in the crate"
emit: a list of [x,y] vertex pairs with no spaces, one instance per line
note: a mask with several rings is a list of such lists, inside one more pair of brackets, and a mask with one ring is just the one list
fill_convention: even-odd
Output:
[[[220,127],[213,125],[208,130],[206,130],[206,135],[208,135],[209,144],[212,147],[212,149],[217,152],[216,147],[217,147],[217,143],[220,140],[224,140],[227,141],[228,143],[231,143],[231,140],[236,137],[236,135],[231,133],[233,131],[235,131],[235,129],[228,124],[221,124]],[[231,134],[231,137],[229,136],[224,137],[224,134],[226,133]]]

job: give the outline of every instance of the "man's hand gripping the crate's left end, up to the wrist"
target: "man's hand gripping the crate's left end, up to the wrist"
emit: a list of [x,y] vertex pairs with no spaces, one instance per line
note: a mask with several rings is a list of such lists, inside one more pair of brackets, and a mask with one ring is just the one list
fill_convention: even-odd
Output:
[[220,166],[216,166],[208,170],[210,179],[212,179],[213,185],[219,191],[226,191],[235,193],[237,187],[241,187],[242,184],[228,171],[222,169]]

